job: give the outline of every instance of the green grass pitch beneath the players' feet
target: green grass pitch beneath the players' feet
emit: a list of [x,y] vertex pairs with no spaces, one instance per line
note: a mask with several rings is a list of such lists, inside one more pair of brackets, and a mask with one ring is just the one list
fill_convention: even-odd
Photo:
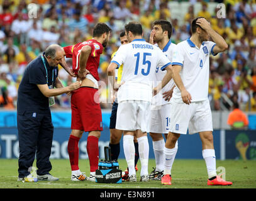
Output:
[[[0,160],[0,188],[256,188],[256,161],[225,160],[216,161],[216,167],[225,168],[227,181],[233,185],[227,187],[207,185],[207,171],[204,160],[175,160],[172,167],[172,185],[161,185],[160,181],[139,182],[140,161],[138,161],[137,182],[122,182],[120,184],[71,182],[69,160],[50,160],[54,177],[60,178],[57,182],[18,182],[18,160]],[[126,161],[119,160],[120,169],[126,169]],[[36,163],[34,163],[34,166]],[[150,159],[148,172],[155,166],[155,160]],[[86,171],[89,175],[89,161],[79,160],[81,171]],[[220,168],[221,170],[221,168]],[[223,171],[223,170],[221,170]],[[220,172],[218,172],[220,173]]]

